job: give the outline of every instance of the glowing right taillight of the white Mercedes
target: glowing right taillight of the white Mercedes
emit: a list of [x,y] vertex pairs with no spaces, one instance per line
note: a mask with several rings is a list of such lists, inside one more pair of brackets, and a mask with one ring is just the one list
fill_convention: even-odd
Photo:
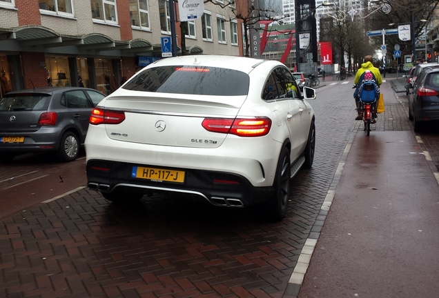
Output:
[[269,133],[271,119],[266,117],[248,119],[206,118],[202,126],[210,132],[230,133],[240,137],[262,137]]

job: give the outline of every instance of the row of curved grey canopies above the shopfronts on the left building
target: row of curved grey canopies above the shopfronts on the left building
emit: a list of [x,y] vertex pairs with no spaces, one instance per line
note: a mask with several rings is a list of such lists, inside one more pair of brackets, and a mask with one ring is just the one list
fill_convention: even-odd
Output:
[[0,43],[4,40],[18,41],[20,46],[42,46],[43,48],[57,48],[77,46],[80,50],[121,52],[153,52],[153,46],[145,39],[132,39],[130,41],[115,41],[111,37],[100,33],[84,35],[59,34],[43,26],[20,26],[16,28],[0,28]]

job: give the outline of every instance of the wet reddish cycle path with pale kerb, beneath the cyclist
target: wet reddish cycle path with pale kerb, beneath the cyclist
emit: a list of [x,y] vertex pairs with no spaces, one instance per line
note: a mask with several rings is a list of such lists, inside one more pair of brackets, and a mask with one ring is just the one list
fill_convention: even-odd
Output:
[[[404,79],[383,79],[405,92]],[[389,91],[394,108],[398,95]],[[437,297],[437,168],[411,130],[367,137],[357,128],[313,228],[318,236],[307,240],[284,297]],[[301,274],[302,284],[291,286]]]

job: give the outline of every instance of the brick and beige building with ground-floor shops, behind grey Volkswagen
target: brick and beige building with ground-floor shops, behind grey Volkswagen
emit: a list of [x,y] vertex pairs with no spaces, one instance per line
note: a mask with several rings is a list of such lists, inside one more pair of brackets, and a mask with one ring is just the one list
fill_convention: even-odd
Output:
[[[235,2],[216,1],[188,22],[178,21],[175,3],[179,54],[242,54]],[[0,92],[43,86],[113,92],[139,68],[162,59],[161,40],[171,35],[173,23],[169,3],[0,0]]]

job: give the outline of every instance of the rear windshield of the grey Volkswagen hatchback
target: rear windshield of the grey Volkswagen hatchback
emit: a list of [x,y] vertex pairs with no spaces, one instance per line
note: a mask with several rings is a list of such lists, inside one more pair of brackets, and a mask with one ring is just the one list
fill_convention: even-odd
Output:
[[6,95],[0,99],[1,111],[47,110],[50,95]]

